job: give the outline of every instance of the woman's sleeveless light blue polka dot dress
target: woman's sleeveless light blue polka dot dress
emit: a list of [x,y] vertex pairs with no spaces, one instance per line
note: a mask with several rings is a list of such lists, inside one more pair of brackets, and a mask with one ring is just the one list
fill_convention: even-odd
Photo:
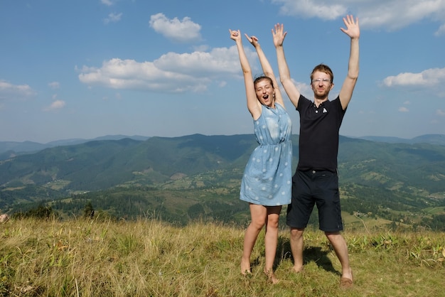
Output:
[[240,200],[276,206],[291,202],[292,123],[286,109],[262,105],[254,120],[257,146],[247,162],[241,181]]

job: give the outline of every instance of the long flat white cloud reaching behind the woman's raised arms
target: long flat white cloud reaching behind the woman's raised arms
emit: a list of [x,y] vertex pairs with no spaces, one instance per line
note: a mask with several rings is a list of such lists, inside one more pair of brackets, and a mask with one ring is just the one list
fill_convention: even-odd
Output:
[[[245,51],[249,60],[255,61],[251,62],[254,71],[257,55],[250,48]],[[83,66],[76,70],[86,85],[156,92],[200,92],[213,80],[242,75],[235,45],[210,52],[166,53],[152,62],[114,58],[104,61],[100,68]]]

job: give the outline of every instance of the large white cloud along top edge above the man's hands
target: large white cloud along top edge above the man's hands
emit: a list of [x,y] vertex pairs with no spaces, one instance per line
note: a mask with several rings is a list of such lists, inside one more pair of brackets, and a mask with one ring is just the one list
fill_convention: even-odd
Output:
[[[429,18],[445,21],[445,0],[272,0],[280,12],[301,18],[333,20],[352,13],[360,19],[362,28],[382,28],[395,31]],[[443,28],[438,32],[443,33]]]

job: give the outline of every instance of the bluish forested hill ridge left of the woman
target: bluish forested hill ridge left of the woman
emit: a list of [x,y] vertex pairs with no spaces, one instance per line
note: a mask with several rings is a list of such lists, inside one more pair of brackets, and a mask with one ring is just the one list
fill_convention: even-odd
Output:
[[190,175],[234,166],[254,144],[252,135],[195,134],[55,146],[1,162],[0,185],[67,180],[70,190],[98,190],[132,180],[138,173],[149,176],[147,183],[164,182],[177,173]]

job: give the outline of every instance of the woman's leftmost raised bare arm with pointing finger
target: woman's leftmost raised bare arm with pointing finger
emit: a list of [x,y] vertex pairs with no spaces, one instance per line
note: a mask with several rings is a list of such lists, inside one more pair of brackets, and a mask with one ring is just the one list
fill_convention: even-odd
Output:
[[246,89],[247,109],[252,114],[253,119],[258,119],[261,115],[261,103],[257,99],[255,88],[253,84],[252,70],[250,69],[249,60],[242,47],[240,30],[232,31],[229,29],[230,39],[234,40],[237,45],[238,55],[240,56],[240,63],[242,75],[244,75],[244,84]]

